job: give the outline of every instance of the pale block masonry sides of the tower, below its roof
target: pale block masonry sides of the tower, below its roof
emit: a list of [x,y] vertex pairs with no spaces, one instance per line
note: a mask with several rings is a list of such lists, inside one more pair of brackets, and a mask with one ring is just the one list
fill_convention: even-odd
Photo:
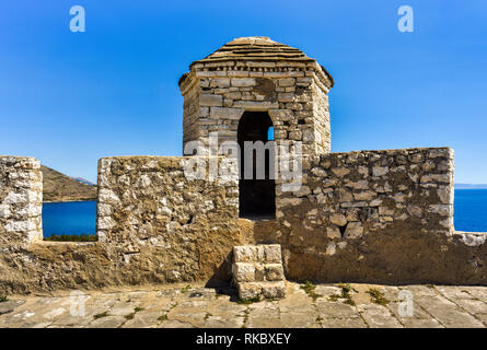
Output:
[[220,143],[236,141],[243,113],[265,110],[278,143],[302,142],[306,155],[329,152],[328,89],[317,78],[315,62],[228,61],[197,63],[194,70],[181,86],[184,143],[208,144],[210,132]]

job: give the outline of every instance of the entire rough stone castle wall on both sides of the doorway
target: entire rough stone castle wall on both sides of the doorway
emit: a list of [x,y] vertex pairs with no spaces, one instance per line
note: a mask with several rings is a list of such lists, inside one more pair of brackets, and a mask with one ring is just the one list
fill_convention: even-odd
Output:
[[487,283],[487,234],[453,229],[448,148],[305,160],[301,189],[256,223],[237,219],[235,175],[185,175],[199,160],[102,159],[98,242],[65,243],[40,241],[38,161],[2,158],[0,292],[229,280],[232,247],[255,243],[281,244],[288,279]]

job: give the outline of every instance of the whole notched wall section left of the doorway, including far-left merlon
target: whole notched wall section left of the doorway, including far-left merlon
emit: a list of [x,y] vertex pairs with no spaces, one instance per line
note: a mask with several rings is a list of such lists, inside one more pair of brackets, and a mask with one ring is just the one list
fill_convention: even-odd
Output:
[[39,241],[38,162],[1,159],[0,294],[230,280],[233,246],[253,242],[237,180],[188,179],[185,162],[102,159],[98,242],[65,243]]

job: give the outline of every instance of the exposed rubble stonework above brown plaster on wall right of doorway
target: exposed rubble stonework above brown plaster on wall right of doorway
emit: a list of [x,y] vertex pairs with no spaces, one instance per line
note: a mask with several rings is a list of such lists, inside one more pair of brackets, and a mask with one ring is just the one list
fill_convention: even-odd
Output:
[[[453,151],[413,149],[332,153],[305,174],[315,203],[304,226],[331,240],[360,238],[401,222],[422,232],[453,230]],[[308,191],[306,190],[306,191]],[[327,246],[332,249],[333,243]]]

